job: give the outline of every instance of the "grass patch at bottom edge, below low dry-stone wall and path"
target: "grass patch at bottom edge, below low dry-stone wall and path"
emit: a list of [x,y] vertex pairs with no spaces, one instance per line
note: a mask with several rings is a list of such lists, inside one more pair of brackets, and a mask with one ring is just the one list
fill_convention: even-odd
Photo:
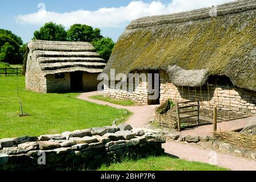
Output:
[[228,169],[199,162],[170,158],[169,156],[127,160],[122,163],[105,164],[99,171],[227,171]]

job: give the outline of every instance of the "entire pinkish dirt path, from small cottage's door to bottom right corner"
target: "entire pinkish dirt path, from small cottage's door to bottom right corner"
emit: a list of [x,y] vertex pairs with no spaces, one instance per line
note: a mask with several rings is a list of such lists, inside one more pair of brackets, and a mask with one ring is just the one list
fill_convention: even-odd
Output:
[[[155,112],[155,106],[120,106],[111,104],[109,102],[103,102],[98,100],[92,100],[88,97],[102,94],[99,92],[87,92],[82,93],[78,98],[81,100],[86,100],[89,102],[94,102],[96,104],[101,105],[108,105],[111,107],[116,107],[118,109],[127,109],[133,112],[134,114],[129,118],[129,120],[126,122],[130,124],[133,127],[145,127],[149,120],[153,117]],[[241,127],[243,125],[246,125],[247,122],[249,122],[251,118],[246,120],[241,120],[239,124],[235,125],[235,128]],[[219,127],[226,128],[229,125],[234,125],[235,121],[233,122],[225,122],[225,123],[219,123]],[[184,134],[198,134],[198,133],[204,133],[209,134],[211,131],[212,126],[201,126],[197,129],[187,131]],[[165,152],[170,155],[177,156],[180,159],[185,159],[189,161],[195,161],[195,162],[203,162],[203,163],[210,163],[210,152],[212,152],[211,149],[205,148],[202,146],[197,145],[191,145],[191,144],[183,144],[180,142],[167,142],[163,144],[163,148],[165,148]],[[222,154],[220,152],[217,152],[217,165],[220,167],[229,168],[234,171],[247,171],[247,170],[256,170],[256,160],[250,160],[238,156],[233,156],[230,154]]]

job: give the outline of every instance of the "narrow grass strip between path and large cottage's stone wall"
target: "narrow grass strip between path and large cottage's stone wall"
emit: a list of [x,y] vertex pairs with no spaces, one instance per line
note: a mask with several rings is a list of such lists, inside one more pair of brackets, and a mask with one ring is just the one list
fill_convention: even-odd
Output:
[[105,102],[110,102],[112,104],[122,105],[122,106],[138,106],[140,105],[138,102],[131,100],[118,100],[116,98],[104,97],[102,95],[90,96],[89,98],[94,100],[100,100]]

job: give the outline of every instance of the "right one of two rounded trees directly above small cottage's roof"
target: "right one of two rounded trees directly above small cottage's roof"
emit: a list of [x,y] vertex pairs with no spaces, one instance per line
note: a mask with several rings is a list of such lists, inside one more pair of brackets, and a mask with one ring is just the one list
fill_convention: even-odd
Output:
[[67,40],[73,42],[92,42],[94,39],[101,39],[101,30],[86,24],[73,24],[67,30]]

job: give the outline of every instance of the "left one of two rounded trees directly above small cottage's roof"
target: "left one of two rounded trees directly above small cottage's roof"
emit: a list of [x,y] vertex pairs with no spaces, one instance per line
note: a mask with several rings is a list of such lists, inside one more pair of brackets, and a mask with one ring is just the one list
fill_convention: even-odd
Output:
[[34,40],[66,41],[67,32],[62,24],[45,23],[39,31],[34,32]]

